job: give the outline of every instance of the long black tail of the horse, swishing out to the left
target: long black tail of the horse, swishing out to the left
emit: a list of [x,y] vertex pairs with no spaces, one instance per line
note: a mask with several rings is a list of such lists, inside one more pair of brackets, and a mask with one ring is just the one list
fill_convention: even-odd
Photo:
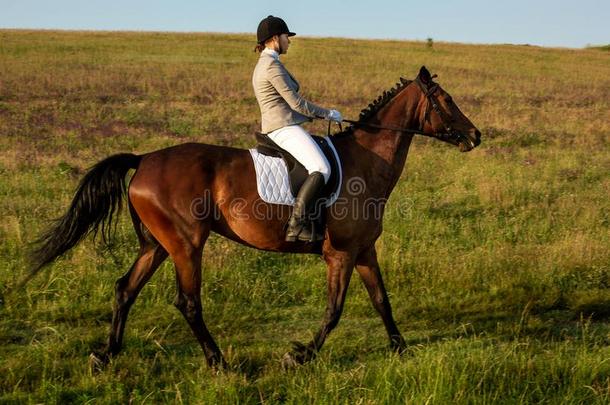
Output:
[[125,175],[137,169],[140,156],[121,153],[110,156],[95,166],[81,180],[70,208],[34,242],[30,273],[20,283],[24,285],[44,266],[73,248],[93,231],[102,231],[106,242],[112,232],[113,214],[121,210],[126,194]]

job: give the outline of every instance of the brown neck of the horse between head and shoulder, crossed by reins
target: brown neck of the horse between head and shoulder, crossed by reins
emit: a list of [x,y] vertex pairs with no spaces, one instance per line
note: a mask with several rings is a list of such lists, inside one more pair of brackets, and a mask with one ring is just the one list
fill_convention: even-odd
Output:
[[[407,86],[366,122],[393,128],[416,129],[419,127],[419,98],[420,94],[415,86]],[[362,154],[364,148],[371,153],[371,157],[375,157],[375,163],[369,160],[369,164],[376,166],[373,170],[376,176],[375,182],[386,190],[386,195],[389,195],[400,178],[413,135],[363,126],[354,130],[353,138],[355,142],[352,146],[355,154]]]

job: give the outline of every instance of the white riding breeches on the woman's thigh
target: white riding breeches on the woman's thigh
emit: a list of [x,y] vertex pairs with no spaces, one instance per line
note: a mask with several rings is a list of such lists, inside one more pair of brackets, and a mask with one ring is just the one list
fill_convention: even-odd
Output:
[[320,172],[324,176],[324,183],[330,177],[330,164],[320,150],[320,147],[299,125],[289,125],[276,129],[267,134],[280,148],[290,153],[298,160],[309,174]]

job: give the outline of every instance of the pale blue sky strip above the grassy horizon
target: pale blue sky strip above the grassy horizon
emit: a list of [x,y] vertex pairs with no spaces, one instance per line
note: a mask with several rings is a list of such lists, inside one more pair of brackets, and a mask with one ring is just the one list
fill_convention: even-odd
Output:
[[0,28],[239,32],[581,48],[610,44],[610,0],[0,0]]

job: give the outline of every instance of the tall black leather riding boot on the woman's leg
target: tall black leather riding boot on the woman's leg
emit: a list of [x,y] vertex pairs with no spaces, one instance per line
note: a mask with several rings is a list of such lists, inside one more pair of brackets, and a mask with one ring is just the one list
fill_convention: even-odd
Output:
[[314,229],[314,222],[309,218],[323,187],[324,176],[320,172],[313,172],[305,179],[288,220],[286,242],[315,242],[324,239],[324,235]]

